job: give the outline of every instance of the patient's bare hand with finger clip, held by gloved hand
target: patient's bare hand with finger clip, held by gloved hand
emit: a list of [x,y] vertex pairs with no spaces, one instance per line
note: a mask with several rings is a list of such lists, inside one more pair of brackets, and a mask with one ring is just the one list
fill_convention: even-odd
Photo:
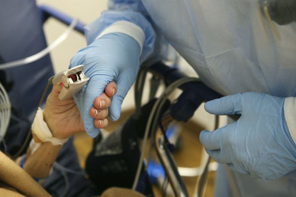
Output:
[[[53,136],[57,138],[67,138],[75,132],[85,131],[74,99],[60,100],[58,98],[62,87],[61,85],[53,86],[43,111],[44,121]],[[94,123],[97,128],[108,126],[108,107],[111,103],[111,97],[116,94],[116,90],[115,82],[110,82],[106,86],[105,93],[94,100],[94,107],[90,109],[89,113],[95,119]]]

